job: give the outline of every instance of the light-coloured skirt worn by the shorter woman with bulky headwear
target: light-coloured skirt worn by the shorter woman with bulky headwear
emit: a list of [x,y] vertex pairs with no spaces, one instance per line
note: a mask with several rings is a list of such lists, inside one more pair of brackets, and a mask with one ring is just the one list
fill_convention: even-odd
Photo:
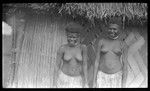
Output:
[[82,88],[82,77],[71,77],[64,74],[62,71],[59,73],[57,80],[58,88]]

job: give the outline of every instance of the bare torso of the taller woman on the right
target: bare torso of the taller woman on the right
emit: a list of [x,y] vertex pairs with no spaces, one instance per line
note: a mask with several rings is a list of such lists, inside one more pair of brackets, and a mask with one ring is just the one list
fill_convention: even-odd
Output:
[[120,41],[104,40],[100,52],[99,70],[108,74],[120,71],[122,69],[121,54]]

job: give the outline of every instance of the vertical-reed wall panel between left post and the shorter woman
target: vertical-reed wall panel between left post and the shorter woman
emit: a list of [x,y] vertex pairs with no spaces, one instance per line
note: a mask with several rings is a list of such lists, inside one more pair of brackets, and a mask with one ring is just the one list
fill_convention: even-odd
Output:
[[14,87],[52,87],[56,53],[66,43],[62,27],[48,17],[28,21]]

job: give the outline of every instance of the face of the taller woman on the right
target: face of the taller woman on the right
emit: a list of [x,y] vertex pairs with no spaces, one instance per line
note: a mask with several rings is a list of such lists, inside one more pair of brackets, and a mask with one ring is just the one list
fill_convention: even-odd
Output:
[[119,28],[116,25],[109,26],[109,29],[107,30],[108,36],[111,39],[117,39],[119,36]]

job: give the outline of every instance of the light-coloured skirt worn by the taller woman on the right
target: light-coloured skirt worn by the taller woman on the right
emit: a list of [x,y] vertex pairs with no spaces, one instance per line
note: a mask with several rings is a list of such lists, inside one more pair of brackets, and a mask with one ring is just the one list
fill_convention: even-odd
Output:
[[97,88],[121,88],[122,71],[107,74],[99,71],[97,74]]

